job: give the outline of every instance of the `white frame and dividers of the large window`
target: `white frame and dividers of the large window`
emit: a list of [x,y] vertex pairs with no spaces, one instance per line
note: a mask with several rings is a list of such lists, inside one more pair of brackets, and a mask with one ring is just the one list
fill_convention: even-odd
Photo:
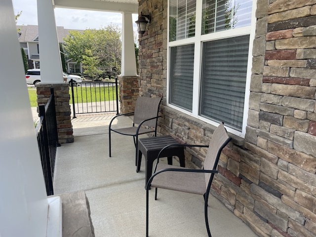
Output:
[[[192,116],[194,118],[198,118],[204,122],[207,122],[211,125],[218,126],[218,122],[213,120],[201,117],[198,115],[199,112],[199,98],[200,98],[200,82],[201,82],[201,65],[202,65],[202,44],[205,41],[209,40],[220,40],[226,39],[229,37],[237,37],[246,34],[250,34],[249,37],[249,51],[248,51],[248,66],[247,66],[247,77],[246,77],[246,85],[245,85],[245,99],[244,99],[244,109],[243,109],[243,121],[242,121],[242,130],[237,131],[233,128],[226,127],[227,131],[235,134],[239,137],[244,138],[246,133],[247,119],[248,119],[248,110],[249,110],[249,95],[250,95],[250,79],[251,79],[251,67],[252,67],[252,49],[253,49],[253,40],[255,38],[256,31],[256,17],[255,12],[257,8],[257,0],[252,1],[252,13],[251,13],[251,25],[242,28],[236,28],[227,31],[219,31],[215,33],[210,33],[206,35],[201,35],[201,26],[202,26],[202,0],[197,1],[197,12],[196,12],[196,34],[195,37],[183,39],[183,40],[175,40],[169,42],[169,5],[170,2],[168,0],[168,22],[167,22],[167,90],[166,90],[166,105],[170,108],[178,110],[184,114]],[[232,36],[232,33],[233,36]],[[193,106],[192,112],[179,108],[175,105],[169,104],[169,90],[170,90],[170,48],[174,46],[181,46],[185,44],[195,44],[195,54],[194,54],[194,75],[193,75]]]

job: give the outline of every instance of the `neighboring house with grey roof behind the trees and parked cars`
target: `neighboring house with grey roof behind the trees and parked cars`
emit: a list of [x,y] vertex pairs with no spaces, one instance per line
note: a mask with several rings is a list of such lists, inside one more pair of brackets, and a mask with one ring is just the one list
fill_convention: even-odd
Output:
[[[27,55],[29,61],[29,68],[40,68],[40,50],[39,50],[39,30],[36,25],[26,25],[26,26],[17,26],[20,28],[19,42],[22,48]],[[64,43],[64,37],[69,35],[70,29],[64,29],[63,26],[57,26],[57,37],[59,43]],[[76,30],[82,31],[82,30]],[[72,59],[67,59],[67,70],[68,73],[82,73],[82,65],[73,61]]]

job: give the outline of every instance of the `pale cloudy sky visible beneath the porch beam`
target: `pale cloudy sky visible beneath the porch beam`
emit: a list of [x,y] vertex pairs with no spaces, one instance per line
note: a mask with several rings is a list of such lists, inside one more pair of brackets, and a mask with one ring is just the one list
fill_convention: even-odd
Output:
[[[37,0],[12,0],[14,14],[22,11],[17,25],[38,25]],[[55,8],[56,26],[65,29],[85,30],[100,29],[109,24],[122,27],[122,14],[116,12],[87,11],[79,9]],[[137,30],[135,21],[137,14],[132,15],[134,31]]]

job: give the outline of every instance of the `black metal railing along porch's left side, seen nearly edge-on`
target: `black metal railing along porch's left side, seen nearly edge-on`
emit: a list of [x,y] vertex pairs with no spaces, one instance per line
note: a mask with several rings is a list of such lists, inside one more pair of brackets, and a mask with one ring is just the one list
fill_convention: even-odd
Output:
[[40,150],[41,165],[44,174],[47,196],[54,194],[53,178],[58,143],[54,89],[50,88],[50,97],[46,105],[39,105],[40,120],[36,134]]

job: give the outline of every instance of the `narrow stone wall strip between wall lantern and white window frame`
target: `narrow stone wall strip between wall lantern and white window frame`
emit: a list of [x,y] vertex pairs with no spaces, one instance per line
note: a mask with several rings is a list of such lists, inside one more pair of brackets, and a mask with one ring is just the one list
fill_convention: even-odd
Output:
[[[151,14],[146,32],[139,38],[139,94],[162,97],[166,92],[167,0],[139,0],[139,14]],[[162,104],[165,102],[162,101]]]

